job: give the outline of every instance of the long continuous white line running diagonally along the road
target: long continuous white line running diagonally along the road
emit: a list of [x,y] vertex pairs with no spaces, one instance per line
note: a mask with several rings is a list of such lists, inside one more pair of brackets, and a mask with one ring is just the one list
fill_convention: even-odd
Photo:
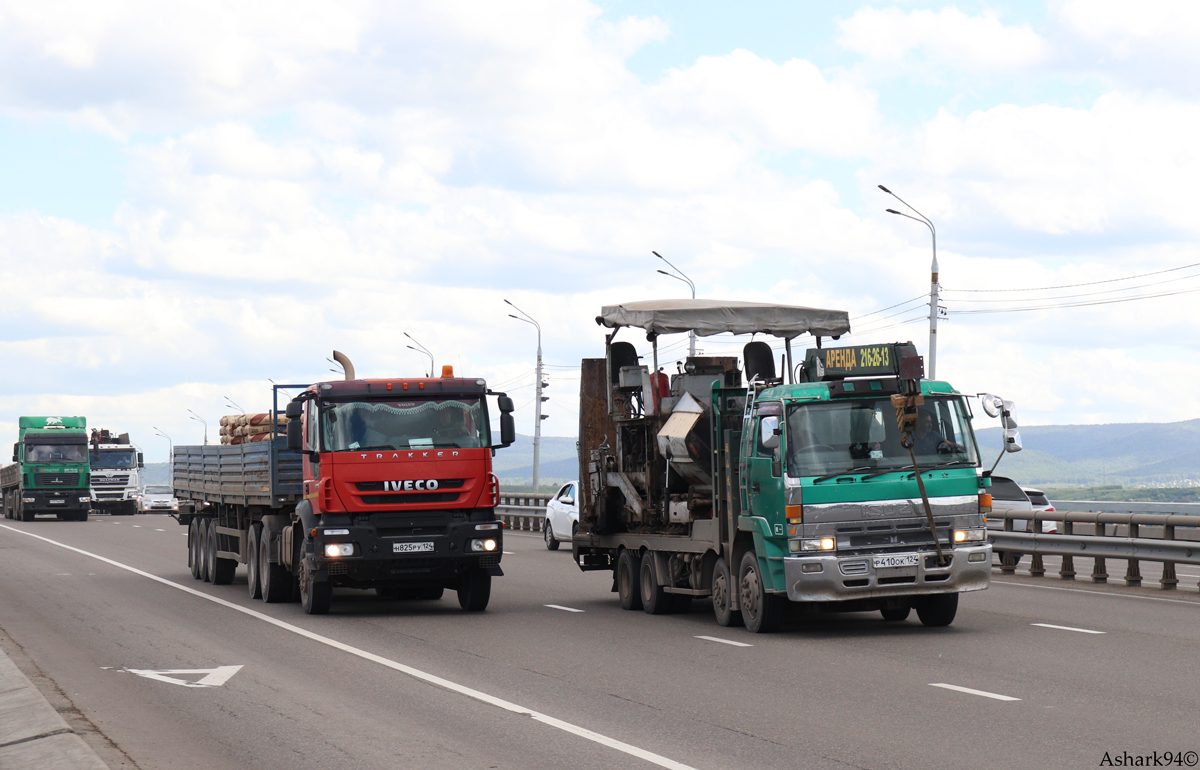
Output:
[[434,687],[442,687],[444,690],[449,690],[450,692],[456,692],[456,693],[458,693],[461,696],[466,696],[466,697],[472,698],[474,700],[479,700],[480,703],[486,703],[487,705],[493,705],[493,706],[496,706],[498,709],[503,709],[505,711],[510,711],[510,712],[517,714],[520,716],[528,716],[528,717],[533,718],[536,722],[541,722],[542,724],[547,724],[550,727],[560,729],[564,733],[570,733],[572,735],[578,735],[580,738],[583,738],[586,740],[593,741],[595,744],[600,744],[601,746],[607,746],[608,748],[614,748],[614,750],[617,750],[617,751],[619,751],[622,753],[629,754],[631,757],[637,757],[638,759],[644,759],[646,762],[649,762],[650,764],[655,764],[655,765],[658,765],[660,768],[667,768],[668,770],[696,770],[691,765],[685,765],[682,762],[676,762],[674,759],[668,759],[667,757],[664,757],[661,754],[655,754],[652,751],[647,751],[644,748],[638,748],[637,746],[634,746],[631,744],[626,744],[624,741],[619,741],[616,738],[608,738],[607,735],[602,735],[600,733],[595,733],[593,730],[589,730],[586,727],[580,727],[578,724],[572,724],[570,722],[565,722],[563,720],[552,717],[552,716],[550,716],[547,714],[541,714],[540,711],[534,711],[533,709],[527,709],[523,705],[518,705],[518,704],[512,703],[510,700],[504,700],[503,698],[497,698],[496,696],[490,696],[486,692],[481,692],[479,690],[473,690],[472,687],[467,687],[466,685],[460,685],[457,682],[450,681],[449,679],[443,679],[443,678],[437,676],[434,674],[428,674],[426,672],[420,670],[419,668],[413,668],[412,666],[406,666],[403,663],[398,663],[396,661],[392,661],[392,660],[389,660],[386,657],[383,657],[382,655],[376,655],[374,652],[367,652],[366,650],[361,650],[361,649],[359,649],[356,646],[350,646],[349,644],[343,644],[342,642],[338,642],[336,639],[331,639],[329,637],[322,636],[322,634],[316,633],[313,631],[308,631],[307,628],[301,628],[300,626],[294,626],[290,622],[286,622],[286,621],[280,620],[277,618],[272,618],[270,615],[263,614],[263,613],[260,613],[258,610],[250,609],[248,607],[242,607],[241,604],[235,604],[235,603],[233,603],[230,601],[226,601],[226,600],[220,598],[217,596],[211,596],[209,594],[205,594],[204,591],[198,591],[194,588],[184,585],[182,583],[175,583],[174,580],[168,580],[167,578],[161,578],[157,575],[151,575],[150,572],[145,572],[145,571],[139,570],[137,567],[131,567],[127,564],[121,564],[120,561],[113,561],[112,559],[108,559],[106,557],[101,557],[100,554],[90,553],[90,552],[84,551],[82,548],[76,548],[74,546],[68,546],[66,543],[60,543],[58,541],[50,540],[49,537],[43,537],[41,535],[35,535],[34,533],[26,533],[24,530],[16,529],[13,527],[8,527],[7,524],[0,524],[0,528],[7,529],[7,530],[11,530],[11,531],[22,534],[22,535],[28,535],[29,537],[35,537],[35,539],[41,540],[43,542],[48,542],[52,546],[58,546],[59,548],[65,548],[67,551],[73,551],[73,552],[78,553],[78,554],[82,554],[84,557],[90,557],[92,559],[96,559],[97,561],[103,561],[104,564],[112,565],[112,566],[114,566],[114,567],[116,567],[119,570],[125,570],[127,572],[132,572],[133,575],[140,575],[142,577],[148,578],[150,580],[154,580],[156,583],[162,583],[163,585],[169,585],[170,588],[179,589],[179,590],[184,591],[185,594],[191,594],[192,596],[198,596],[198,597],[208,600],[208,601],[210,601],[210,602],[212,602],[215,604],[221,604],[222,607],[227,607],[227,608],[233,609],[235,612],[240,612],[244,615],[250,615],[251,618],[257,618],[258,620],[262,620],[263,622],[269,622],[272,626],[276,626],[277,628],[283,628],[284,631],[290,631],[292,633],[294,633],[296,636],[300,636],[300,637],[304,637],[306,639],[311,639],[313,642],[318,642],[320,644],[325,644],[325,645],[331,646],[331,648],[334,648],[336,650],[342,650],[343,652],[348,652],[348,654],[354,655],[356,657],[361,657],[362,660],[371,661],[372,663],[378,663],[378,664],[380,664],[380,666],[383,666],[385,668],[390,668],[390,669],[397,670],[397,672],[400,672],[402,674],[407,674],[407,675],[412,676],[413,679],[418,679],[420,681],[427,682],[430,685],[433,685]]

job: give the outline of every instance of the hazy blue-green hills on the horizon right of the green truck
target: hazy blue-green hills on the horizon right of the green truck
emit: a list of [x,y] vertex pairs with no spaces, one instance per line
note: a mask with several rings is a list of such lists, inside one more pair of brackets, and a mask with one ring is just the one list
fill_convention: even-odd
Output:
[[[1054,487],[1200,486],[1200,420],[1021,427],[1025,450],[997,474]],[[1000,453],[1000,428],[976,433],[984,467]]]

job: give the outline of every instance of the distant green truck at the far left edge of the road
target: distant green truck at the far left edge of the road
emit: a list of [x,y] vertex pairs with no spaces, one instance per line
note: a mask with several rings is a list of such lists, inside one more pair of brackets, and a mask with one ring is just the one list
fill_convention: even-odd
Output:
[[31,522],[53,513],[86,522],[91,509],[91,469],[86,417],[20,417],[12,447],[14,465],[0,469],[5,518]]

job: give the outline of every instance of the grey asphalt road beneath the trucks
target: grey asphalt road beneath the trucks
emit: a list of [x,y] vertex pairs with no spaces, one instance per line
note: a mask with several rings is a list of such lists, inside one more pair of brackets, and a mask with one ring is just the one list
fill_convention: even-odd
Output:
[[[1195,578],[1168,594],[996,570],[948,628],[796,613],[764,636],[703,602],[623,612],[605,573],[536,534],[508,533],[482,614],[451,594],[338,590],[308,616],[251,601],[241,567],[234,585],[194,580],[186,542],[162,516],[0,522],[0,644],[113,768],[1094,768],[1200,751]],[[239,666],[208,687],[131,673]]]

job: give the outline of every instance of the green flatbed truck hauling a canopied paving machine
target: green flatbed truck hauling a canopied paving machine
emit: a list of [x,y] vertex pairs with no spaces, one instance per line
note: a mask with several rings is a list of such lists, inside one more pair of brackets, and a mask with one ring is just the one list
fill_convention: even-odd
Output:
[[[990,477],[964,395],[923,378],[912,343],[822,348],[841,311],[712,300],[602,308],[605,357],[580,386],[582,570],[608,570],[626,609],[709,598],[722,626],[778,626],[788,602],[954,620],[988,588]],[[638,354],[624,329],[646,332]],[[658,338],[781,338],[659,367]],[[792,341],[816,348],[792,361]],[[626,337],[631,337],[626,332]],[[653,356],[653,367],[642,362]],[[647,362],[649,363],[649,361]],[[745,378],[743,380],[743,377]]]

